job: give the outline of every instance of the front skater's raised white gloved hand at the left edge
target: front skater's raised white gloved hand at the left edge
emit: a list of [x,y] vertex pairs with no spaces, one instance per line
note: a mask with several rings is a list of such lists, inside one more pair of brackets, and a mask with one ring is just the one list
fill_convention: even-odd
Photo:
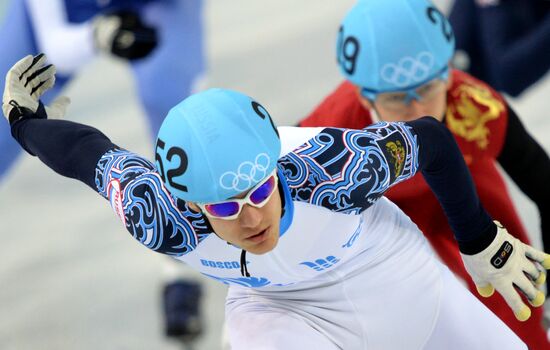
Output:
[[62,118],[70,103],[61,96],[49,106],[40,96],[55,83],[55,66],[46,65],[46,55],[29,55],[18,61],[6,75],[2,111],[10,124],[21,118]]

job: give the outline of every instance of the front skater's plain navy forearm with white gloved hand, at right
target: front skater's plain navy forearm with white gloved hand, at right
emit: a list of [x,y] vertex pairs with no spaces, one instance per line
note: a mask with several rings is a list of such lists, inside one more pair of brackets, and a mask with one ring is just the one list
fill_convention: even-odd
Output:
[[490,222],[451,133],[441,123],[434,128],[421,123],[425,120],[409,123],[419,137],[420,168],[447,214],[466,270],[482,296],[491,296],[498,290],[516,318],[525,321],[531,310],[518,290],[532,306],[544,303],[539,286],[546,274],[538,264],[550,268],[550,256],[522,243],[498,222],[497,227]]

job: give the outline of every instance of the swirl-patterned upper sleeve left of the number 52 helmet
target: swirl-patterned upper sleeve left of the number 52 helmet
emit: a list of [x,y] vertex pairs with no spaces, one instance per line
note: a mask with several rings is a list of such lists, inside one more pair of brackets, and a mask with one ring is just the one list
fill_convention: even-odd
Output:
[[95,184],[132,236],[156,252],[189,253],[211,232],[203,215],[171,196],[155,166],[134,153],[105,153],[96,167]]

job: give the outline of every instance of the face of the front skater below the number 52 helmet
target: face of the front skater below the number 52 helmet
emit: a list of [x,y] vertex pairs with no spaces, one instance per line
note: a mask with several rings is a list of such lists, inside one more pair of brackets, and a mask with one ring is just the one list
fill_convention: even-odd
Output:
[[[276,175],[274,175],[276,176]],[[260,182],[269,181],[269,178]],[[249,198],[256,188],[241,193],[235,199]],[[281,197],[275,183],[272,194],[261,207],[243,204],[240,213],[230,220],[216,218],[207,212],[205,205],[200,207],[189,203],[194,210],[200,210],[208,217],[214,232],[223,240],[238,246],[253,254],[267,253],[279,241],[279,225],[281,220]]]

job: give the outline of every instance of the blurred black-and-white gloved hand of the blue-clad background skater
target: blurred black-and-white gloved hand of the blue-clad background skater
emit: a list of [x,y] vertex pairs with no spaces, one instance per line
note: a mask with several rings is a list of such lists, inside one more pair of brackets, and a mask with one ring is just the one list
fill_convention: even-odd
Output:
[[125,59],[146,57],[157,46],[157,31],[132,11],[117,11],[94,19],[94,41],[102,51]]

